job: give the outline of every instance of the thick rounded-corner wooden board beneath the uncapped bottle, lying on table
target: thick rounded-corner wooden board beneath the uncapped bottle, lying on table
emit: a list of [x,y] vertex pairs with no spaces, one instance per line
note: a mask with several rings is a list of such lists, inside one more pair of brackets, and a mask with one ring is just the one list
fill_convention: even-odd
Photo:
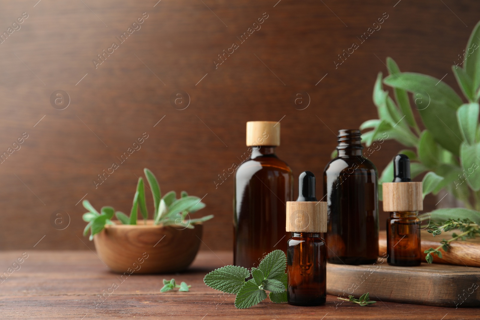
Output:
[[[385,256],[386,257],[386,256]],[[396,267],[386,259],[372,265],[327,263],[327,293],[439,307],[480,307],[480,268],[422,263]],[[338,304],[342,300],[338,300]],[[343,303],[348,303],[344,301]]]

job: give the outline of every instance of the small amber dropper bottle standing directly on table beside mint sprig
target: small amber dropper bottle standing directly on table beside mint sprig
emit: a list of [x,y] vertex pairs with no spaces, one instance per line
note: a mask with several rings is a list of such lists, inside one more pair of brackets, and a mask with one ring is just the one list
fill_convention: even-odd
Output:
[[327,203],[315,197],[315,176],[299,176],[299,197],[287,202],[287,301],[297,306],[323,305],[326,299]]

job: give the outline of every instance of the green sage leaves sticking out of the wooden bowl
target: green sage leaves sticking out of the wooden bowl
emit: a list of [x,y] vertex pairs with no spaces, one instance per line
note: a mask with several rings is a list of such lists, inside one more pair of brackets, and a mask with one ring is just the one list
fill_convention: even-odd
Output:
[[[205,207],[205,204],[199,197],[189,196],[186,191],[181,191],[179,199],[177,199],[175,191],[169,191],[161,197],[160,186],[158,185],[155,175],[147,168],[144,168],[144,174],[152,191],[154,225],[176,225],[193,229],[195,224],[213,218],[213,214],[210,214],[202,218],[191,219],[190,213],[195,213]],[[130,216],[127,216],[121,211],[115,212],[112,207],[108,206],[102,207],[100,213],[98,213],[88,200],[84,200],[82,204],[84,208],[88,210],[88,212],[83,215],[84,221],[88,222],[84,229],[84,236],[88,234],[88,230],[90,229],[90,240],[93,239],[94,235],[102,231],[106,224],[114,224],[114,222],[112,222],[114,213],[117,219],[124,225],[136,225],[139,210],[144,219],[144,224],[146,224],[148,218],[145,200],[145,184],[142,177],[138,178]]]

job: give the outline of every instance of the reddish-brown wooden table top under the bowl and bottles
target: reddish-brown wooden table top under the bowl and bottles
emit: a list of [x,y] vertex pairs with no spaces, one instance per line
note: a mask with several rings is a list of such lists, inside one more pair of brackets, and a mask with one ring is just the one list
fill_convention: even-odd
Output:
[[[23,251],[0,253],[0,273],[7,272]],[[108,271],[92,251],[29,251],[23,263],[0,280],[0,319],[479,319],[479,308],[440,308],[378,301],[370,307],[336,305],[327,296],[321,307],[273,304],[266,299],[236,309],[235,296],[204,285],[203,277],[232,262],[228,251],[201,251],[189,271],[168,275],[135,275],[123,280]],[[175,259],[168,257],[166,259]],[[20,267],[20,268],[19,268]],[[17,269],[17,270],[14,270]],[[162,279],[191,284],[190,292],[160,293]],[[116,283],[118,288],[111,289]],[[105,301],[98,295],[105,294]],[[371,293],[372,296],[372,293]],[[268,302],[267,302],[268,301]],[[100,304],[100,302],[102,302]]]

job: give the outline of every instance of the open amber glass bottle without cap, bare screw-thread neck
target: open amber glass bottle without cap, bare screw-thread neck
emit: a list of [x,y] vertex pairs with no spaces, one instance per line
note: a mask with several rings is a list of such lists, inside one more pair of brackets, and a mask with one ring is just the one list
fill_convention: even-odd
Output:
[[373,263],[378,257],[377,168],[362,156],[360,130],[339,130],[338,155],[324,170],[327,261]]

